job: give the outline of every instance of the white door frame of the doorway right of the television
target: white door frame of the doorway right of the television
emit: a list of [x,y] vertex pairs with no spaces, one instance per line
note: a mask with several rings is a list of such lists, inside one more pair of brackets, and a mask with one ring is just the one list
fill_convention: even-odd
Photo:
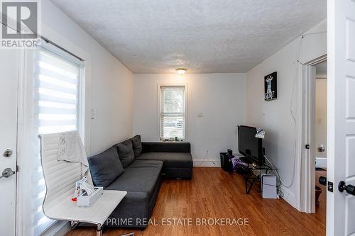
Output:
[[[297,150],[300,150],[300,211],[306,213],[315,213],[315,69],[312,66],[325,60],[327,55],[322,55],[301,64],[300,72]],[[306,149],[306,145],[310,145],[310,149]]]

